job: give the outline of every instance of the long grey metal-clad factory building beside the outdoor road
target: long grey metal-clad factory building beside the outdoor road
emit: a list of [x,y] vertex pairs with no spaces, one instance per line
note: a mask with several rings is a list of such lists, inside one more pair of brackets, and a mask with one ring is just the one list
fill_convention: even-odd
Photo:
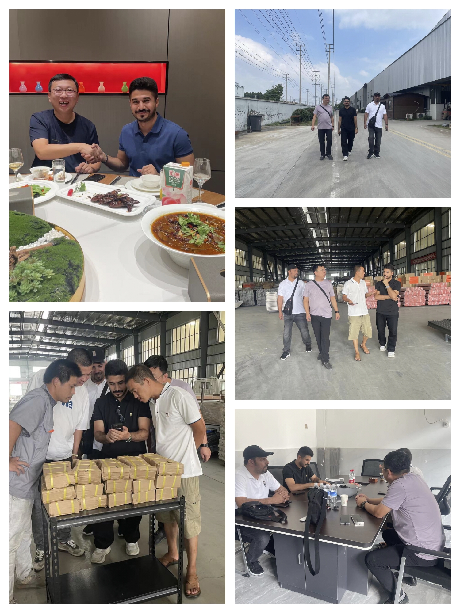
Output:
[[377,91],[389,119],[409,114],[450,120],[450,53],[449,10],[429,34],[351,95],[351,106],[366,109]]

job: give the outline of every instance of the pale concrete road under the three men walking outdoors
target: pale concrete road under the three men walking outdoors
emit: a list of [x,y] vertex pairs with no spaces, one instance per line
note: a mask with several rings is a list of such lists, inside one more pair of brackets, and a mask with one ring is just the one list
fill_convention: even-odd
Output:
[[332,157],[320,161],[318,132],[298,126],[240,134],[235,139],[237,198],[450,197],[450,132],[442,121],[389,120],[380,159],[366,159],[364,114],[348,161],[343,161],[338,112]]

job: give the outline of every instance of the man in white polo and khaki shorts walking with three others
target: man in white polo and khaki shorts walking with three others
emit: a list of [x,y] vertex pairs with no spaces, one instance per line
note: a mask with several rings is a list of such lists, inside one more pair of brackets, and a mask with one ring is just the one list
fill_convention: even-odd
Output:
[[366,347],[368,338],[372,338],[372,326],[369,312],[367,311],[366,298],[375,294],[375,289],[367,291],[364,281],[364,266],[353,268],[353,278],[345,282],[342,290],[342,300],[348,303],[348,340],[353,341],[355,348],[355,360],[361,362],[358,349],[359,332],[362,332],[362,343],[359,345],[366,355],[369,349]]

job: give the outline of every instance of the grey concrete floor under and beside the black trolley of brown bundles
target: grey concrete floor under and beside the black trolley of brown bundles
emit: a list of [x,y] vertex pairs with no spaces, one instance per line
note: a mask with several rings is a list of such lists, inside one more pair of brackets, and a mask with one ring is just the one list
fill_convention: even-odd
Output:
[[[200,477],[201,492],[201,535],[198,543],[197,574],[201,587],[199,598],[182,598],[183,604],[218,604],[225,602],[225,540],[224,540],[224,500],[225,500],[225,465],[217,458],[217,454],[202,463],[203,475]],[[85,549],[85,555],[72,557],[65,552],[59,552],[59,569],[61,574],[71,573],[83,568],[90,568],[90,555],[94,550],[93,537],[82,535],[83,527],[72,528],[72,538],[75,543]],[[112,550],[105,558],[104,564],[126,560],[125,539],[117,536],[117,522],[114,525],[115,541]],[[148,516],[140,522],[139,555],[148,555]],[[32,547],[35,557],[35,545]],[[157,557],[166,554],[166,540],[156,548]],[[184,574],[186,568],[186,553],[184,552]],[[177,566],[171,571],[177,576]],[[45,573],[44,570],[40,571]],[[17,603],[46,603],[44,589],[15,590]],[[159,600],[148,600],[142,604],[177,603],[177,596],[167,596]]]

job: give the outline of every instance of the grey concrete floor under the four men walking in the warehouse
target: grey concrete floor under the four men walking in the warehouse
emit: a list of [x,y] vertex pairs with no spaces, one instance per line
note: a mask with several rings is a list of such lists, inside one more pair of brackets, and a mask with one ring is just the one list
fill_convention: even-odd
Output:
[[[379,350],[375,309],[370,309],[373,337],[370,354],[360,350],[355,362],[348,340],[347,305],[339,303],[340,319],[331,324],[332,370],[318,356],[311,324],[312,352],[305,353],[300,332],[293,326],[291,356],[283,351],[283,322],[266,307],[235,311],[236,400],[450,400],[450,341],[427,326],[429,320],[450,318],[450,306],[401,307],[396,357]],[[360,337],[359,342],[361,343]]]

